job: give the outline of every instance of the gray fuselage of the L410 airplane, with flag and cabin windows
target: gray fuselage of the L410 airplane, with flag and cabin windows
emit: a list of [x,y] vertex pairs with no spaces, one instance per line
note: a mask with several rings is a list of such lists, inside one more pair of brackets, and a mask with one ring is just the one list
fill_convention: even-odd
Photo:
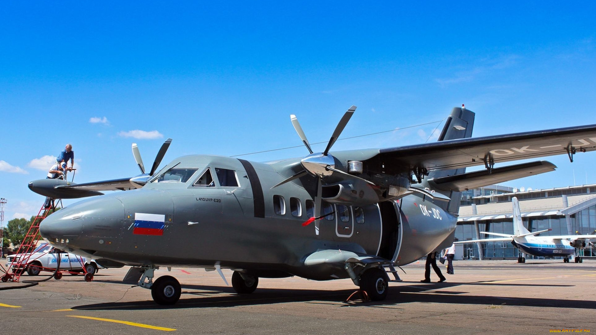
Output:
[[[315,209],[307,191],[312,178],[271,189],[286,177],[271,164],[196,155],[163,171],[139,190],[59,210],[42,222],[42,236],[59,249],[126,265],[219,265],[257,277],[329,280],[347,272],[337,264],[305,265],[310,255],[339,250],[404,265],[455,230],[453,215],[415,194],[362,206],[325,201],[324,194]],[[302,226],[318,213],[329,215]]]

